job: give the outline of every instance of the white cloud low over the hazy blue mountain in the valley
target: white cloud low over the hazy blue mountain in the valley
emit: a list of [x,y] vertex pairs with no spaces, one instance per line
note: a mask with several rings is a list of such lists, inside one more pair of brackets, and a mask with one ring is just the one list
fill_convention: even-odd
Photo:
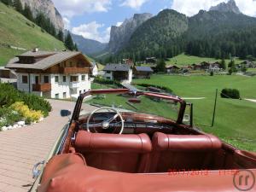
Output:
[[103,24],[92,21],[87,24],[73,27],[72,32],[77,35],[82,35],[84,38],[93,39],[102,43],[108,43],[111,27],[108,27],[103,32],[100,32],[99,29],[103,26]]

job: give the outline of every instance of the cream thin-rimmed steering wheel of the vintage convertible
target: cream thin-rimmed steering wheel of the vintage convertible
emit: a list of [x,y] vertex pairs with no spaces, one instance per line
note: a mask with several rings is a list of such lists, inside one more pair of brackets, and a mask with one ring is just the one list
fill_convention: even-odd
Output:
[[[90,119],[91,117],[93,116],[94,113],[96,112],[99,112],[99,111],[102,111],[102,110],[108,110],[108,111],[112,111],[114,112],[115,114],[113,115],[112,118],[108,119],[108,120],[103,120],[101,123],[96,123],[96,124],[91,124],[90,123]],[[113,120],[114,119],[117,119],[119,117],[120,121],[119,122],[116,122],[116,123],[113,123]],[[125,123],[124,123],[124,119],[122,117],[122,115],[114,108],[108,108],[108,107],[103,107],[103,108],[97,108],[96,110],[94,110],[93,112],[90,113],[88,119],[87,119],[87,131],[90,132],[90,127],[93,127],[94,131],[95,132],[98,132],[96,131],[95,127],[101,127],[102,130],[109,130],[110,127],[112,126],[120,126],[120,131],[119,131],[119,134],[122,134],[122,132],[124,131],[124,126],[125,126]],[[115,129],[116,130],[116,129]],[[114,130],[114,131],[115,131]],[[114,133],[113,131],[113,133]]]

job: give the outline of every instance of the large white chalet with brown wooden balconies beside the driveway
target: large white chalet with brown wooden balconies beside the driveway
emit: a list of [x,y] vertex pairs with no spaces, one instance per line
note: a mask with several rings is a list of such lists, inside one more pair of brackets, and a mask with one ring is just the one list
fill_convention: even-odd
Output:
[[17,74],[17,89],[66,99],[90,90],[90,61],[80,52],[34,51],[18,55],[6,66]]

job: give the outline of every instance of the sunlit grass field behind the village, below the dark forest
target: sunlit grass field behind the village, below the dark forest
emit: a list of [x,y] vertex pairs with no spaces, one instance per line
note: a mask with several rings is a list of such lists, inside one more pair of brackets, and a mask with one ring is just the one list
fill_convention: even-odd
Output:
[[[186,66],[186,65],[192,65],[192,64],[197,64],[197,63],[201,63],[202,61],[220,61],[220,60],[216,60],[214,58],[207,58],[207,57],[198,57],[198,56],[191,56],[191,55],[177,55],[171,59],[169,59],[169,61],[166,61],[166,65],[177,65],[177,66]],[[226,60],[226,64],[228,65],[228,63],[230,62],[230,60]],[[241,63],[241,60],[236,59],[236,64]]]

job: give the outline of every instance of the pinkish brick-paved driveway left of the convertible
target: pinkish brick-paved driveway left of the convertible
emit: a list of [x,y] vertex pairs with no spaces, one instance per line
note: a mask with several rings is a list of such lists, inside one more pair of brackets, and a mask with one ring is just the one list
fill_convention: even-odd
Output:
[[[47,157],[67,117],[61,109],[73,110],[74,102],[49,100],[53,111],[43,122],[18,130],[0,132],[0,191],[20,192],[33,183],[32,166]],[[86,111],[94,109],[88,105]]]

